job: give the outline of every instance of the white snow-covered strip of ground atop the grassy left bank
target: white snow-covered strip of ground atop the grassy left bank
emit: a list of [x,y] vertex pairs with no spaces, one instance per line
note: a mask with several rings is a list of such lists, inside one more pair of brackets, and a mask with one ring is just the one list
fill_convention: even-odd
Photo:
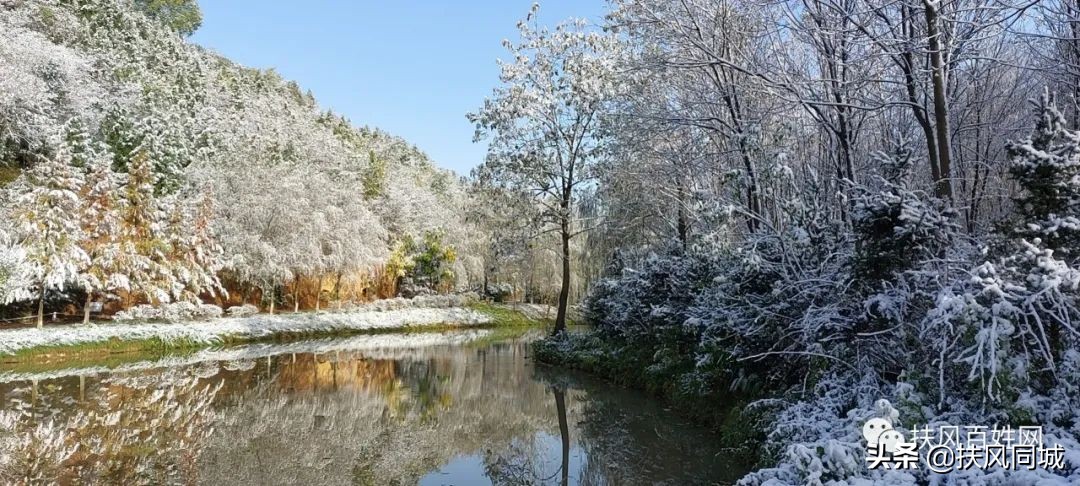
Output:
[[490,322],[464,308],[406,308],[348,313],[259,314],[187,323],[90,324],[0,330],[0,356],[51,346],[73,346],[110,339],[185,341],[213,345],[226,338],[253,340],[275,334],[393,329],[437,324],[480,325]]

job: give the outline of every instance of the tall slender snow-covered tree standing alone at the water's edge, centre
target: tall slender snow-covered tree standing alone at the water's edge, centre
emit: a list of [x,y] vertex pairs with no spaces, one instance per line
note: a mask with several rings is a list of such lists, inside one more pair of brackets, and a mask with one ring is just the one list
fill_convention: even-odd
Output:
[[616,90],[615,39],[584,21],[540,27],[534,5],[518,23],[517,43],[504,41],[512,59],[502,63],[501,85],[470,120],[477,138],[491,135],[480,177],[529,192],[545,208],[562,242],[563,282],[555,333],[566,328],[570,291],[570,239],[583,230],[575,219],[580,190],[603,156],[605,104]]

